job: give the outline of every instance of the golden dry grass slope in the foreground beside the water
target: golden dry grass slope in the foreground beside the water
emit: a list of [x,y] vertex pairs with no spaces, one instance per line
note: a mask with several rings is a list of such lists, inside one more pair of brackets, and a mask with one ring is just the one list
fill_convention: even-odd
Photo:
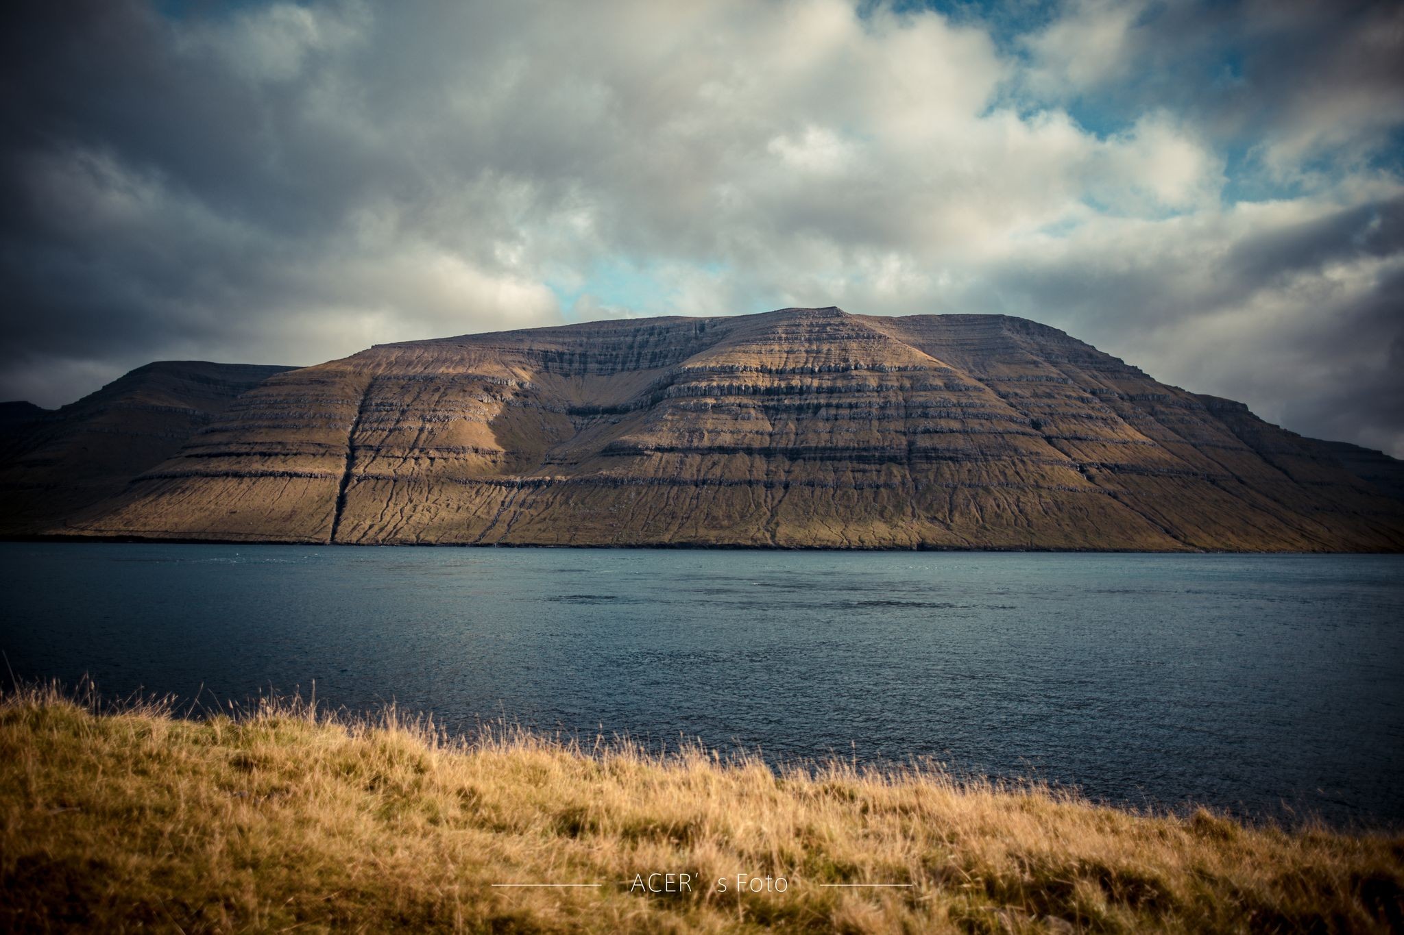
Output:
[[[651,872],[692,892],[629,892]],[[737,893],[737,873],[788,892]],[[602,886],[491,886],[541,882]],[[935,771],[0,698],[0,931],[1390,931],[1401,893],[1398,837]]]

